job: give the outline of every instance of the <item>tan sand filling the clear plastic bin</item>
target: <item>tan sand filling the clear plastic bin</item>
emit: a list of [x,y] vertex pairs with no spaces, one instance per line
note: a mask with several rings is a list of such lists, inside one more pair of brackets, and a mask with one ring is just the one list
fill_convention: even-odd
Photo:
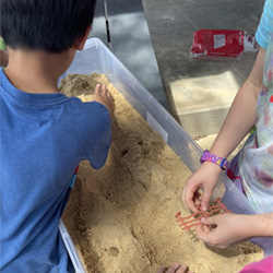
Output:
[[86,271],[155,273],[179,261],[199,273],[235,273],[262,259],[250,241],[221,250],[181,232],[175,214],[189,215],[180,197],[190,170],[105,75],[71,74],[61,91],[86,102],[96,83],[115,98],[117,138],[102,169],[81,163],[63,215]]

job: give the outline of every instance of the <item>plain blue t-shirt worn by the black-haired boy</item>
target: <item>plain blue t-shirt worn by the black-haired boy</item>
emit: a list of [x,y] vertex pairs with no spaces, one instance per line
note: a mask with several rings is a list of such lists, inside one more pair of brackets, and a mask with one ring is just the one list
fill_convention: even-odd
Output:
[[74,272],[58,225],[73,171],[94,168],[111,142],[109,111],[63,94],[15,88],[0,69],[0,271]]

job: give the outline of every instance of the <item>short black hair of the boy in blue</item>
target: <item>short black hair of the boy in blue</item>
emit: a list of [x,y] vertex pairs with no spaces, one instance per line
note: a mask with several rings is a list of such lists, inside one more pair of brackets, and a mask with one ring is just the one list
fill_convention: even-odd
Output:
[[0,35],[12,49],[61,52],[92,24],[96,0],[0,0]]

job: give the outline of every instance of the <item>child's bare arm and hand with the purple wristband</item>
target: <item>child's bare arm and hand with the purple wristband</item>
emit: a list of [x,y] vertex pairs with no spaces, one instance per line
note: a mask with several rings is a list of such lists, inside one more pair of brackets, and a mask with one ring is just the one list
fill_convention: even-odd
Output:
[[[254,124],[256,106],[263,83],[263,66],[266,50],[260,47],[252,71],[240,87],[227,114],[224,124],[210,152],[226,158]],[[194,197],[199,188],[203,188],[202,209],[206,210],[221,168],[205,162],[187,180],[182,192],[182,201],[191,211],[197,212]]]

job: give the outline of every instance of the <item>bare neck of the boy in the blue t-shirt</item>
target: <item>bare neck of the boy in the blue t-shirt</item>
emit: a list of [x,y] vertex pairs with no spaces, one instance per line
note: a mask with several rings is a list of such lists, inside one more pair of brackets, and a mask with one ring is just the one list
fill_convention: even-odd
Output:
[[75,50],[61,54],[8,49],[4,72],[11,83],[26,93],[58,93],[58,79],[73,60]]

